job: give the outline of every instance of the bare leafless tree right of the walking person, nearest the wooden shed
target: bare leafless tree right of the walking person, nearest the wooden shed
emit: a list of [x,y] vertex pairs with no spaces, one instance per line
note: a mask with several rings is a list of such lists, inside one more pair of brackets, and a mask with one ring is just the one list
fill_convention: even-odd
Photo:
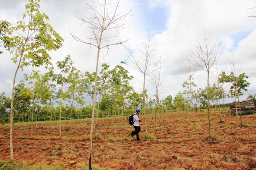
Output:
[[205,31],[201,37],[198,38],[196,49],[191,51],[191,59],[188,62],[194,66],[198,66],[207,73],[207,112],[209,125],[209,138],[211,139],[211,119],[210,119],[210,91],[209,80],[210,73],[213,71],[212,67],[221,57],[223,48],[221,43],[211,41],[211,35],[206,35]]

